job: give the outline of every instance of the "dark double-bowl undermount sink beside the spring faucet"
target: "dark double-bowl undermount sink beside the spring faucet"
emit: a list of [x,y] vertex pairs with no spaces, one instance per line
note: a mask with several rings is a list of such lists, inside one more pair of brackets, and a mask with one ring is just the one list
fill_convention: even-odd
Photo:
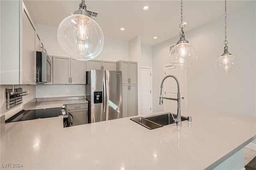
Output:
[[[154,115],[154,116],[148,116],[148,117],[136,117],[132,118],[131,120],[148,128],[148,129],[154,129],[158,127],[163,127],[165,125],[170,125],[174,123],[172,120],[172,115],[175,118],[177,118],[177,115],[171,114],[171,113],[163,113],[160,115]],[[181,117],[181,121],[188,120],[186,117]]]

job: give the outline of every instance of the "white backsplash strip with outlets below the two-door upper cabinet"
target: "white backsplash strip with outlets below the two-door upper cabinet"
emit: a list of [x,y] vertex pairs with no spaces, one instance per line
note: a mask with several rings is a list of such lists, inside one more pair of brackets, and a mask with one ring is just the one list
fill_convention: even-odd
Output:
[[36,98],[85,95],[85,85],[36,85]]

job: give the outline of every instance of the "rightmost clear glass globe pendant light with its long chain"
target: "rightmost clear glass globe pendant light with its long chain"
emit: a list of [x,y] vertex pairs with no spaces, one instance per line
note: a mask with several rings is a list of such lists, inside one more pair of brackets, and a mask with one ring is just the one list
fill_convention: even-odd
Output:
[[224,53],[215,61],[215,67],[222,73],[231,73],[238,67],[238,59],[228,52],[227,41],[227,1],[225,0],[225,47]]

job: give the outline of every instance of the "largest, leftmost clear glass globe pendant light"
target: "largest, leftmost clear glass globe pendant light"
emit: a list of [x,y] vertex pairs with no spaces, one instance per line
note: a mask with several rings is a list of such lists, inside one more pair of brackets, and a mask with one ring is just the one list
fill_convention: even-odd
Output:
[[104,35],[100,26],[86,10],[82,0],[79,10],[66,17],[58,27],[58,42],[72,58],[87,61],[97,57],[103,49]]

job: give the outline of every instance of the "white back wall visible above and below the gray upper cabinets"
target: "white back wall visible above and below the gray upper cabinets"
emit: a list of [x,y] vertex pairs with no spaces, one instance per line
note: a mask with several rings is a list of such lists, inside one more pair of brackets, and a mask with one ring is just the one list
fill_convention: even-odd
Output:
[[[69,57],[58,43],[57,27],[36,24],[36,30],[49,55]],[[128,60],[128,58],[127,41],[104,37],[102,52],[95,59],[118,61]],[[66,87],[69,87],[68,92]],[[41,93],[38,93],[38,88],[42,89]],[[36,85],[36,98],[77,95],[85,95],[85,85]]]

